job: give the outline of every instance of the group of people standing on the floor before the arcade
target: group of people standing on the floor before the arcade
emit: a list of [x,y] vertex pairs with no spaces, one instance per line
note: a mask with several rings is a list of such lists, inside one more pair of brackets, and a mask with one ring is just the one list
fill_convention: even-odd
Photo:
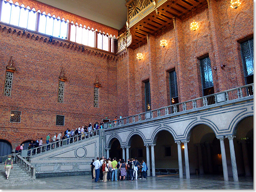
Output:
[[93,159],[90,166],[92,180],[95,182],[147,179],[147,163],[144,159],[138,161],[136,157],[125,162],[124,159],[117,161],[116,157],[106,159],[102,156],[100,159],[97,157],[96,161]]

